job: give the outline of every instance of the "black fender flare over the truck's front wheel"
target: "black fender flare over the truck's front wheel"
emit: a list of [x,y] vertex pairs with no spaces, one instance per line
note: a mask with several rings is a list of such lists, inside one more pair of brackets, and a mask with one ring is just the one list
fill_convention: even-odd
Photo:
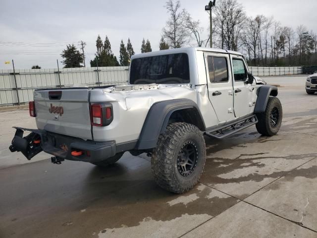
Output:
[[278,94],[277,87],[271,85],[264,85],[258,89],[258,99],[254,113],[264,113],[269,96],[276,97]]

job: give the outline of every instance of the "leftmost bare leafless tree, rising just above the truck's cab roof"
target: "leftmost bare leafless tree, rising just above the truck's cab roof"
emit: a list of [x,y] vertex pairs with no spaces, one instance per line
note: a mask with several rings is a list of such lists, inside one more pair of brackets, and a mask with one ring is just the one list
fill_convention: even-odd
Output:
[[180,48],[188,42],[189,29],[186,27],[187,12],[181,9],[179,0],[168,0],[165,5],[170,17],[162,29],[162,35],[169,47]]

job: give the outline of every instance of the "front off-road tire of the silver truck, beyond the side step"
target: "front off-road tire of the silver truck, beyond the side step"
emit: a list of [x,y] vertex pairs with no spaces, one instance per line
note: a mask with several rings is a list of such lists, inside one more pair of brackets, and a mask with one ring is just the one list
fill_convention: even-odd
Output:
[[[278,112],[278,119],[276,120],[275,125],[271,124],[271,114],[272,112]],[[283,110],[281,102],[278,98],[269,97],[264,113],[258,113],[257,118],[259,122],[256,124],[257,130],[260,134],[265,136],[275,135],[279,128],[281,127],[283,119]]]

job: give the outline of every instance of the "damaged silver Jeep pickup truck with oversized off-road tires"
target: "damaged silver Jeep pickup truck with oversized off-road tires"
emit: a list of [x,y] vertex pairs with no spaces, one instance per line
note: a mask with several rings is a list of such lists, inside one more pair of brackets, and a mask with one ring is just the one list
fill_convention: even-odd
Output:
[[203,173],[204,136],[222,139],[255,124],[271,136],[280,128],[277,88],[253,77],[238,52],[151,52],[133,56],[129,70],[125,86],[35,90],[29,109],[38,128],[15,127],[10,150],[97,166],[126,151],[147,153],[159,186],[183,193]]

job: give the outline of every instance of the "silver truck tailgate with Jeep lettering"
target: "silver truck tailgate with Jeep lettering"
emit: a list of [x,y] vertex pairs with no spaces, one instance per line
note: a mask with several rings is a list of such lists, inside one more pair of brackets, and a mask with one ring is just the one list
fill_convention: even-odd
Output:
[[36,90],[38,128],[91,140],[89,91],[89,88]]

